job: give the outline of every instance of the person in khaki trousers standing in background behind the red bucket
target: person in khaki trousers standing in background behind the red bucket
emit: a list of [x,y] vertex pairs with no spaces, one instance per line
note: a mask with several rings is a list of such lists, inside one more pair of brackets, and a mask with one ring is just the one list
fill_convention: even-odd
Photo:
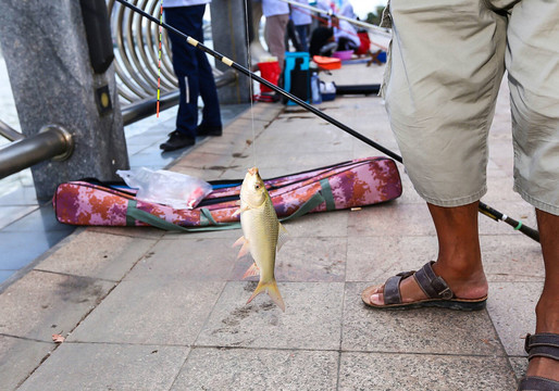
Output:
[[268,51],[277,58],[280,70],[283,71],[289,5],[280,0],[262,0],[262,13],[266,18],[264,38],[268,43]]

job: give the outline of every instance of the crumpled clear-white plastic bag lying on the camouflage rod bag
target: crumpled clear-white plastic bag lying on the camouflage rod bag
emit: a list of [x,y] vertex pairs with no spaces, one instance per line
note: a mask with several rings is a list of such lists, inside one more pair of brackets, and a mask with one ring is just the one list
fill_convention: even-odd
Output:
[[119,169],[116,174],[131,188],[138,189],[138,199],[174,209],[194,209],[212,191],[212,186],[202,179],[165,169],[140,167]]

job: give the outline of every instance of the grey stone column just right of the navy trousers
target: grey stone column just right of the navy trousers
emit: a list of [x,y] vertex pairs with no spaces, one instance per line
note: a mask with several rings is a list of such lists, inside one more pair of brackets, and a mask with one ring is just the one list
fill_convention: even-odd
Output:
[[[250,1],[247,1],[250,8]],[[236,63],[250,68],[248,64],[247,18],[245,0],[212,0],[212,38],[213,48]],[[220,71],[229,67],[220,61],[215,62]],[[221,87],[218,90],[220,103],[250,102],[250,78],[239,74],[235,84]]]

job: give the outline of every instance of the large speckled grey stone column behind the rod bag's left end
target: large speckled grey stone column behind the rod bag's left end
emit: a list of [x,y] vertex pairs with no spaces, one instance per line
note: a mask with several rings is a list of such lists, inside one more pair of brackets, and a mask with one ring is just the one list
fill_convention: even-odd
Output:
[[[128,167],[114,70],[96,74],[77,0],[0,0],[0,45],[25,136],[48,124],[69,130],[72,156],[32,167],[37,197],[58,184],[117,179]],[[109,100],[108,100],[109,98]]]

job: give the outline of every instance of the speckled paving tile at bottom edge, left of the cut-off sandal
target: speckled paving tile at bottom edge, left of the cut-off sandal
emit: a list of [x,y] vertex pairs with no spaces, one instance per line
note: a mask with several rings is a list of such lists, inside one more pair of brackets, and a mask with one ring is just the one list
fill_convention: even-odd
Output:
[[341,353],[338,390],[514,390],[506,357]]

